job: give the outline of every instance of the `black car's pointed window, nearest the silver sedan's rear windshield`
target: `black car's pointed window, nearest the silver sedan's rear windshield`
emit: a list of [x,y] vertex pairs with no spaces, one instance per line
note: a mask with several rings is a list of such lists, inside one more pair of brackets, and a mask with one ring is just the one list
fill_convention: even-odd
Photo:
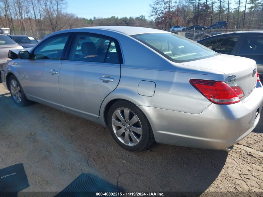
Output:
[[202,45],[212,49],[217,53],[231,54],[235,45],[237,44],[238,38],[239,37],[210,40],[208,42],[202,43]]

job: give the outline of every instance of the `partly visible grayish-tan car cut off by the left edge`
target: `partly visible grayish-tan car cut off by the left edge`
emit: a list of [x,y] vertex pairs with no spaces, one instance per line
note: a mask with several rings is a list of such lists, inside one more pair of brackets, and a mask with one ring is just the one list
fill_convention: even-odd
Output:
[[7,35],[0,35],[0,72],[3,65],[10,60],[8,58],[8,52],[10,49],[23,49],[20,45],[17,45],[14,40],[9,38]]

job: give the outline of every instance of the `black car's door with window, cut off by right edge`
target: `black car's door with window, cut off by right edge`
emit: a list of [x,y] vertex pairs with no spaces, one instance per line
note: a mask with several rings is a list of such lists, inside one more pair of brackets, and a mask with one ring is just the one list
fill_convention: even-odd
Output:
[[254,59],[260,78],[263,77],[263,36],[247,35],[242,39],[242,44],[235,55]]

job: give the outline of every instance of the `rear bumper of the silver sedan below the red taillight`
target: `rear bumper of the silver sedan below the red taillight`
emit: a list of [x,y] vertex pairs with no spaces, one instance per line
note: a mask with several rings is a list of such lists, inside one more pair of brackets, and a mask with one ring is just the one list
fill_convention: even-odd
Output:
[[262,102],[263,88],[258,83],[258,88],[255,88],[246,102],[232,105],[212,103],[200,114],[138,107],[148,118],[158,143],[225,149],[238,143],[256,127]]

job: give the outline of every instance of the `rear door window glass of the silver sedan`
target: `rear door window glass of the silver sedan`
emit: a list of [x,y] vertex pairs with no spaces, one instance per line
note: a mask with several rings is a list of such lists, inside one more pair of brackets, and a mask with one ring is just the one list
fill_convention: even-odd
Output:
[[115,41],[100,35],[76,34],[68,60],[119,64]]

